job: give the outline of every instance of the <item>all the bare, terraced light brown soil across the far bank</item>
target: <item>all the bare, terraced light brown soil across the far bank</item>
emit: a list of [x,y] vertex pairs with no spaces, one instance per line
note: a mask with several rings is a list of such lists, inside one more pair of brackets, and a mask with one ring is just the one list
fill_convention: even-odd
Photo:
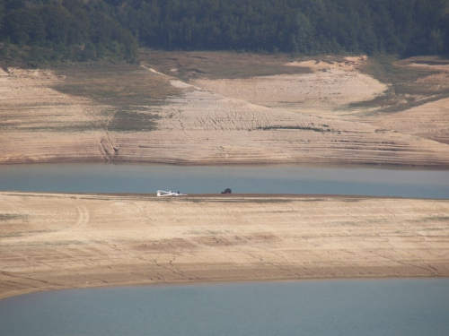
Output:
[[[148,65],[148,81],[170,82],[181,93],[121,119],[123,107],[49,89],[67,81],[52,72],[2,71],[0,164],[95,160],[449,167],[447,100],[388,116],[362,115],[361,108],[348,108],[348,103],[373,99],[387,88],[357,71],[363,62],[364,57],[293,62],[284,68],[310,71],[198,79],[193,85]],[[145,131],[117,127],[134,116],[135,124],[148,124]]]

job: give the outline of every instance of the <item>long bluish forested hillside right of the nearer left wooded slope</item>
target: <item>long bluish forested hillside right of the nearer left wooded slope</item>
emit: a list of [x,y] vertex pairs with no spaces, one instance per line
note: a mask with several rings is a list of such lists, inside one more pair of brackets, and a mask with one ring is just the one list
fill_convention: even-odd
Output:
[[148,47],[436,54],[447,0],[110,0]]

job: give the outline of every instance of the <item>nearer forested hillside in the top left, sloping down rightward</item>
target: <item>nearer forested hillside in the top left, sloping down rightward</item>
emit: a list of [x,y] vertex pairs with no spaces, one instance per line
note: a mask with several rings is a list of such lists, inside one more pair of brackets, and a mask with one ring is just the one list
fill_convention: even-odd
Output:
[[0,0],[0,57],[29,63],[133,60],[136,38],[115,11],[103,1]]

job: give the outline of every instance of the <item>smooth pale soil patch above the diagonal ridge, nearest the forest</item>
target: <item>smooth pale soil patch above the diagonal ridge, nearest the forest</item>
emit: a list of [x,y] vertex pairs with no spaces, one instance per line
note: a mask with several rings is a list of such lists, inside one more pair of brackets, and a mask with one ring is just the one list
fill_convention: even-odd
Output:
[[[248,79],[198,79],[195,85],[225,97],[242,99],[270,108],[317,116],[336,117],[349,103],[373,99],[388,86],[359,73],[365,58],[348,57],[345,62],[290,62],[311,73],[279,74]],[[348,114],[348,108],[346,108]]]

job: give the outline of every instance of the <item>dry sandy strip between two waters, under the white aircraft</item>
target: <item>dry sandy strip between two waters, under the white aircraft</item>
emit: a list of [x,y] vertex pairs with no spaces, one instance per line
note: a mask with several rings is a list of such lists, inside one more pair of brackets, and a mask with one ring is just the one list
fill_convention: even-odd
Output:
[[161,282],[448,275],[448,200],[0,193],[0,297]]

